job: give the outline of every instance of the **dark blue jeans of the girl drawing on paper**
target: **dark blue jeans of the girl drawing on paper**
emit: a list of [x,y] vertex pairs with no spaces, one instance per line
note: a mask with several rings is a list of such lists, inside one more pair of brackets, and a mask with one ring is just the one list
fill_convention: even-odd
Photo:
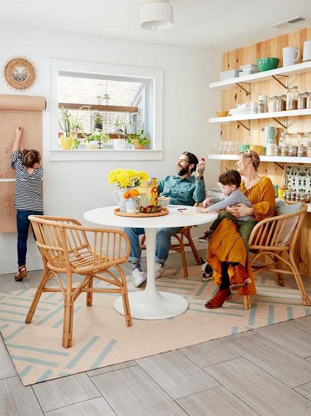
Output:
[[[18,267],[26,265],[27,238],[30,221],[28,215],[43,215],[43,211],[17,210],[17,258]],[[33,237],[36,239],[32,230]]]

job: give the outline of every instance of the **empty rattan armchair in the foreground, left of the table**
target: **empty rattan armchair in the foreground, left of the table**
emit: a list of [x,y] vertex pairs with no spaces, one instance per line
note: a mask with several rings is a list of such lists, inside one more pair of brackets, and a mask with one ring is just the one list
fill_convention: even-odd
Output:
[[[72,218],[29,216],[36,243],[43,260],[43,273],[36,294],[30,306],[25,322],[33,317],[42,292],[61,292],[64,296],[64,324],[62,345],[69,348],[72,345],[74,302],[86,293],[86,306],[92,306],[93,293],[120,293],[123,299],[125,322],[132,324],[127,286],[120,264],[127,261],[130,252],[130,242],[123,231],[83,227]],[[91,248],[86,232],[93,236]],[[110,247],[112,243],[112,247]],[[125,243],[125,254],[121,255],[121,246]],[[117,269],[119,276],[109,270],[112,266]],[[66,273],[67,282],[63,285],[59,273]],[[72,275],[81,275],[81,282],[72,286]],[[107,274],[103,277],[101,274]],[[47,282],[55,277],[59,287],[46,287]],[[116,288],[93,287],[93,278],[111,283]],[[64,287],[66,286],[66,287]]]

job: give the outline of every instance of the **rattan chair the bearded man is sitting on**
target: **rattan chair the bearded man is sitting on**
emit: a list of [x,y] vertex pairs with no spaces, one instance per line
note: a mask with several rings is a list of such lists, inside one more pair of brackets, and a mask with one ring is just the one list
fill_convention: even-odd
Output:
[[[195,202],[194,206],[199,206],[198,202]],[[199,265],[201,264],[200,256],[198,255],[198,252],[195,248],[194,242],[190,234],[191,228],[192,228],[192,225],[188,225],[186,227],[183,227],[176,234],[174,234],[173,237],[177,239],[178,243],[171,244],[171,247],[170,247],[170,250],[181,254],[184,277],[188,277],[185,247],[191,247],[191,251],[193,253],[196,263]],[[184,237],[186,238],[188,242],[184,242]],[[143,235],[140,239],[140,256],[141,256],[142,250],[146,249],[146,245],[144,244],[145,238],[146,238],[145,235]]]

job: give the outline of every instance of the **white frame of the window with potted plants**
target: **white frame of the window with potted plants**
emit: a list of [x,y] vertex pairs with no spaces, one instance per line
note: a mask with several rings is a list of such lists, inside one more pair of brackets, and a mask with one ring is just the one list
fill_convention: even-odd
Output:
[[[127,79],[131,77],[147,78],[153,80],[153,100],[150,111],[146,114],[148,124],[152,125],[153,149],[144,150],[116,150],[116,149],[59,149],[58,141],[58,77],[59,72],[75,72],[99,75],[119,75]],[[91,62],[66,61],[61,59],[50,60],[50,161],[68,160],[162,160],[162,89],[163,70],[141,68],[113,64],[98,64]],[[151,99],[151,97],[149,98]],[[145,108],[143,109],[145,111]],[[153,122],[150,124],[150,120]]]

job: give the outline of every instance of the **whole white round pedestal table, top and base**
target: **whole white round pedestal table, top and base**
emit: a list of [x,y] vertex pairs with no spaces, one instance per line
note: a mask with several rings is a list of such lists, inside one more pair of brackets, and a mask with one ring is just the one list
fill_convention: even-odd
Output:
[[[154,279],[155,237],[158,228],[185,227],[214,221],[217,213],[183,215],[177,209],[194,210],[192,206],[168,205],[169,214],[161,217],[120,217],[114,214],[117,206],[105,206],[84,213],[84,219],[95,224],[112,227],[144,228],[147,251],[147,284],[144,291],[130,293],[129,303],[132,318],[166,319],[185,312],[189,305],[181,296],[158,292]],[[122,297],[116,299],[114,308],[124,315]]]

